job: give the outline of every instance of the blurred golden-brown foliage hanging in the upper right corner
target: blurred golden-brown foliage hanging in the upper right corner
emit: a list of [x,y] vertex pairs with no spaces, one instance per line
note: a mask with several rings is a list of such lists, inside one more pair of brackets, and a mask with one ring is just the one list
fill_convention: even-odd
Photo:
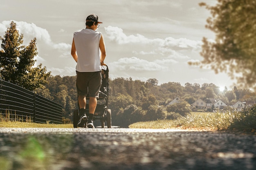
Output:
[[227,72],[243,88],[256,90],[256,0],[218,0],[206,27],[216,33],[215,42],[203,38],[201,66]]

